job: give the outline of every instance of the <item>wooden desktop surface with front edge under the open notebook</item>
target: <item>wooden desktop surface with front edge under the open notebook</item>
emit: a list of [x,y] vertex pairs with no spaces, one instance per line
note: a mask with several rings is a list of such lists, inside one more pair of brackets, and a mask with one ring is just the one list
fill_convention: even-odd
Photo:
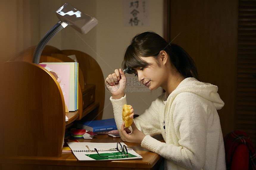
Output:
[[[111,138],[107,135],[97,135],[93,139],[79,139],[80,142],[122,142],[120,138]],[[72,152],[62,153],[61,157],[37,156],[0,156],[1,170],[117,170],[117,169],[154,169],[160,156],[142,148],[140,144],[124,142],[143,158],[139,160],[119,161],[77,161]],[[47,146],[44,146],[47,149]]]

